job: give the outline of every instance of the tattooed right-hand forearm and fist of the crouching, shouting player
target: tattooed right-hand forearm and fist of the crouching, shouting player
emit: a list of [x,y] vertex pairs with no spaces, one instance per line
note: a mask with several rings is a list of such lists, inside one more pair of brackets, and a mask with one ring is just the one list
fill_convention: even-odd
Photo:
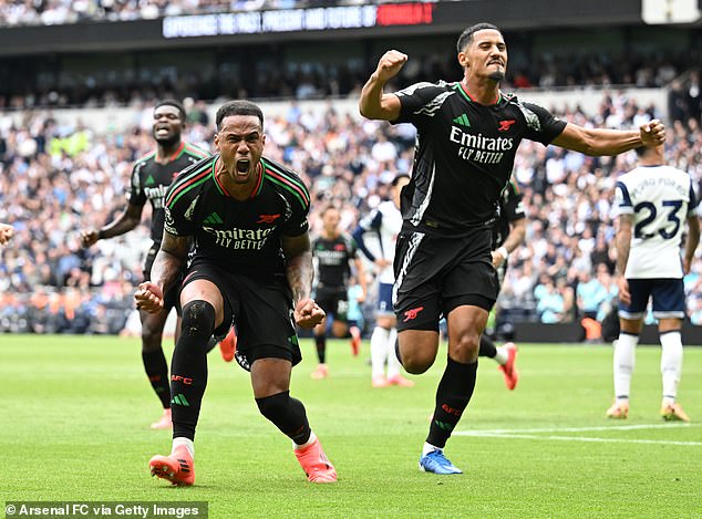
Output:
[[292,290],[295,321],[302,328],[314,328],[324,319],[324,312],[310,298],[314,268],[309,233],[283,236],[282,252],[286,257],[286,276]]

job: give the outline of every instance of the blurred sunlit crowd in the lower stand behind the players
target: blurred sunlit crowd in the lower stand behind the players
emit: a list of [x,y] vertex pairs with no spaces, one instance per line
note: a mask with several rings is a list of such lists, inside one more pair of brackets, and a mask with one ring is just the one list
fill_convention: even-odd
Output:
[[[333,105],[330,105],[333,106]],[[145,226],[82,249],[79,231],[114,218],[123,206],[133,162],[153,146],[151,113],[135,111],[128,128],[101,134],[71,127],[48,111],[25,112],[21,124],[0,116],[0,221],[14,226],[0,248],[0,331],[118,333],[133,309]],[[699,117],[671,123],[669,163],[702,179]],[[580,125],[638,126],[658,116],[620,94],[606,95],[588,117],[569,110],[561,117]],[[213,122],[202,103],[190,105],[184,139],[210,147]],[[398,173],[410,172],[414,131],[410,125],[364,121],[328,107],[320,115],[295,103],[266,122],[265,154],[300,172],[311,187],[313,230],[328,203],[341,208],[341,227],[386,198]],[[510,258],[499,307],[504,315],[545,323],[601,320],[616,298],[615,230],[610,217],[618,175],[634,154],[590,158],[525,141],[513,174],[527,210],[526,245]],[[369,269],[372,272],[372,269]],[[685,278],[691,319],[702,324],[702,261]],[[367,323],[372,301],[365,302]]]

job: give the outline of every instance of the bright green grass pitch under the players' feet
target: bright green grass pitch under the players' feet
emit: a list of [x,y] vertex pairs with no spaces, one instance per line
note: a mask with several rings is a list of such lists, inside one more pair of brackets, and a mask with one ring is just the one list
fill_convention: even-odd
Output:
[[464,469],[456,476],[417,469],[445,346],[412,388],[371,388],[368,342],[353,357],[331,341],[323,381],[309,376],[311,341],[302,353],[291,393],[339,482],[306,481],[290,442],[259,415],[248,374],[215,350],[196,485],[176,488],[148,475],[171,434],[148,428],[161,409],[137,340],[0,335],[0,498],[207,501],[210,518],[702,517],[702,347],[685,349],[679,399],[690,425],[659,417],[658,347],[637,351],[626,422],[605,418],[611,347],[520,344],[514,392],[482,360],[446,448]]

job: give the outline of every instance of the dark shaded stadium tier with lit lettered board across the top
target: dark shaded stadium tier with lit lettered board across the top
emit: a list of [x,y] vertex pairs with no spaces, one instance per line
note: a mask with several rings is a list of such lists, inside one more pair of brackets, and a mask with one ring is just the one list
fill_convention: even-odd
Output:
[[505,32],[507,81],[520,87],[660,85],[667,80],[660,68],[680,73],[696,66],[702,50],[699,20],[647,25],[640,0],[258,2],[260,10],[251,10],[256,2],[231,2],[240,11],[224,11],[224,3],[207,2],[199,13],[143,13],[153,19],[138,19],[140,12],[122,19],[103,9],[80,13],[74,23],[3,28],[0,103],[345,96],[391,46],[417,60],[403,71],[403,86],[425,75],[455,76],[458,68],[445,49],[476,20]]

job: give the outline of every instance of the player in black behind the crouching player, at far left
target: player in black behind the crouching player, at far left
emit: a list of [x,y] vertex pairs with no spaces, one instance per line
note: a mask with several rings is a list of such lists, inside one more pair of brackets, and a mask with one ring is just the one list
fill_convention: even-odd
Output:
[[[140,158],[132,169],[131,188],[127,206],[120,217],[100,230],[85,229],[81,232],[83,247],[90,247],[97,240],[124,235],[142,220],[146,201],[152,206],[151,238],[153,243],[144,264],[144,279],[149,272],[163,236],[164,195],[175,176],[188,166],[206,157],[207,152],[182,139],[185,127],[185,108],[180,103],[165,100],[154,107],[152,133],[156,142],[156,150]],[[164,311],[151,314],[140,311],[142,321],[142,360],[146,376],[156,392],[163,406],[161,418],[152,424],[154,429],[171,428],[171,392],[168,391],[168,365],[163,352],[163,331],[168,312],[176,305],[177,287],[165,298]],[[176,328],[176,339],[177,339]],[[216,343],[213,343],[214,346]]]

